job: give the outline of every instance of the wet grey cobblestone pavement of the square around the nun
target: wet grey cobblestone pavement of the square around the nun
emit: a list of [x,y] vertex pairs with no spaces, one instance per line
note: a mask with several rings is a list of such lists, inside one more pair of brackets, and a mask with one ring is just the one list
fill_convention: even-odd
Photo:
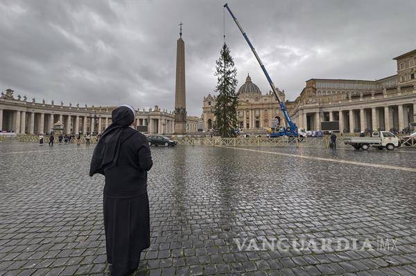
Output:
[[[0,275],[109,274],[93,149],[0,144]],[[152,148],[136,275],[416,275],[414,152],[258,150]]]

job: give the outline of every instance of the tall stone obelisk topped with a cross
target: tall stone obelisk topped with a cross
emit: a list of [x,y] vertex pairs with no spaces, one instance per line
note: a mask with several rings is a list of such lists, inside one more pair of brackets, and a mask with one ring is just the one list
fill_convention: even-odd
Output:
[[187,104],[185,97],[185,43],[182,39],[182,22],[180,37],[176,43],[176,86],[175,86],[175,134],[187,132]]

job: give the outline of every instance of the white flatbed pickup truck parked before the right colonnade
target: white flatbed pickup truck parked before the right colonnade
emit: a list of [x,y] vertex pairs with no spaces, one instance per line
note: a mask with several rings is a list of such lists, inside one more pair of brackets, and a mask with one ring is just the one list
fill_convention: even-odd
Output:
[[370,147],[377,149],[388,149],[392,151],[395,147],[400,147],[400,140],[388,131],[374,131],[372,137],[346,137],[345,145],[352,145],[355,149],[367,150]]

